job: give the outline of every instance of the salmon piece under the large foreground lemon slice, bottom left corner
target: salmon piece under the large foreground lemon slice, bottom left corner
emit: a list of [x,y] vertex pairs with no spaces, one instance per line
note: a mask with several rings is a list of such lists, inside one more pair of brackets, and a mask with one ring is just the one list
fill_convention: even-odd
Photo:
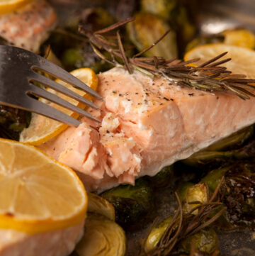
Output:
[[67,256],[81,239],[84,221],[64,230],[28,235],[0,229],[1,256]]

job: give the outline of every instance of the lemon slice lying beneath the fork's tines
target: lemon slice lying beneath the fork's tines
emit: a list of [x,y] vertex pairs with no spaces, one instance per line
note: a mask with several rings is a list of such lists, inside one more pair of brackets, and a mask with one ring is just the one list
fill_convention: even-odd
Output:
[[[71,72],[74,77],[79,78],[82,82],[87,84],[91,89],[96,90],[98,86],[98,77],[94,73],[92,69],[89,68],[81,68],[75,69]],[[81,91],[80,89],[76,89],[72,87],[72,85],[57,80],[58,83],[64,85],[68,89],[72,89],[72,91],[76,92],[77,94],[84,96],[84,98],[91,100],[92,96],[86,94],[86,92]],[[60,96],[62,99],[69,101],[74,106],[78,106],[79,108],[86,108],[86,105],[79,103],[75,99],[70,98],[60,92],[54,91],[53,89],[47,89],[47,91]],[[73,118],[78,118],[79,114],[74,113],[73,111],[68,110],[67,108],[63,108],[62,106],[58,106],[57,104],[50,104],[54,108],[59,109],[63,113],[66,113]],[[30,145],[40,145],[45,143],[47,140],[59,135],[63,130],[68,127],[67,124],[60,123],[58,121],[52,120],[50,118],[46,118],[45,116],[38,115],[36,113],[32,114],[32,119],[30,121],[30,125],[28,128],[24,129],[20,136],[20,141],[23,143],[28,143]]]

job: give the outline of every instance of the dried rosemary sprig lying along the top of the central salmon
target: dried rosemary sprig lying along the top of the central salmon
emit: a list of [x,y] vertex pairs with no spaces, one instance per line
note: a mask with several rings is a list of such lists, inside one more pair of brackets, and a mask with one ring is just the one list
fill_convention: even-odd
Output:
[[[202,91],[229,91],[242,99],[250,99],[251,96],[255,96],[253,93],[255,87],[250,84],[255,83],[255,79],[246,79],[242,74],[231,74],[226,67],[220,66],[231,60],[230,58],[220,60],[227,52],[222,52],[222,54],[213,57],[198,67],[189,65],[192,62],[197,62],[198,59],[184,62],[175,58],[165,60],[164,57],[157,56],[140,57],[147,50],[150,50],[154,45],[159,43],[169,33],[169,30],[155,43],[142,50],[142,52],[128,57],[119,32],[117,32],[115,38],[112,35],[108,35],[108,33],[134,20],[135,18],[128,18],[125,21],[120,21],[94,33],[80,26],[79,32],[86,35],[89,39],[96,55],[112,65],[125,67],[130,74],[134,70],[138,70],[150,77],[165,77],[171,82]],[[105,52],[110,53],[111,59],[105,56]]]

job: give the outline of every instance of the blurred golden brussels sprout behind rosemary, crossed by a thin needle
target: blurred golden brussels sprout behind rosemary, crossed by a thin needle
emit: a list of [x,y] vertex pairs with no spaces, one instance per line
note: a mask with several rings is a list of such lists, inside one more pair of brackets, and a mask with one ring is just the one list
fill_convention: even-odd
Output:
[[[158,40],[167,30],[169,25],[152,13],[137,13],[135,21],[128,23],[128,35],[138,50],[142,51]],[[177,56],[176,34],[171,30],[166,37],[145,52],[147,57],[159,56],[170,59]]]

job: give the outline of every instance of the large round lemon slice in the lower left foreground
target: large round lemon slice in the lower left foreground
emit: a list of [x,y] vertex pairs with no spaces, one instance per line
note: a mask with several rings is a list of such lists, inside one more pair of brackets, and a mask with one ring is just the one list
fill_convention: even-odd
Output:
[[87,196],[77,175],[37,148],[0,139],[0,228],[41,233],[77,225]]

